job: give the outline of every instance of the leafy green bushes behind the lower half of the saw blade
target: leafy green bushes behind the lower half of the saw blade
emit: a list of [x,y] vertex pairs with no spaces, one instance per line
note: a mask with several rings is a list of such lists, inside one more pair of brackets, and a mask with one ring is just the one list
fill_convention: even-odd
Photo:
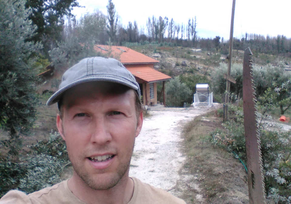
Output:
[[[221,111],[220,111],[221,113]],[[258,114],[261,121],[262,114]],[[246,146],[243,126],[243,110],[229,106],[229,121],[223,123],[225,131],[214,131],[210,140],[229,152],[236,153],[246,163]],[[270,119],[270,118],[269,118]],[[276,124],[260,123],[261,152],[265,189],[269,202],[291,202],[291,131],[279,131]]]

